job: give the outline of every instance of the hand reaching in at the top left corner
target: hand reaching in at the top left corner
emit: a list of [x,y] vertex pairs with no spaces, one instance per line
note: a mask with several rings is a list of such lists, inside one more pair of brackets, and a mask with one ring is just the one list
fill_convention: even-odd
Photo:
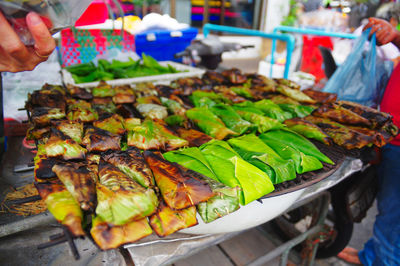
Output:
[[35,41],[34,46],[25,46],[0,12],[0,72],[33,70],[39,63],[46,61],[56,47],[39,15],[28,13],[26,24]]

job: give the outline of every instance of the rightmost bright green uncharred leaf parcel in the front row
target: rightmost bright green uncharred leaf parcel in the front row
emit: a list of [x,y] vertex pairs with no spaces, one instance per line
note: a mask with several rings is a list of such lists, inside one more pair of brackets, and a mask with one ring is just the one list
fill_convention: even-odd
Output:
[[265,141],[276,141],[287,144],[288,146],[296,149],[306,155],[314,156],[318,160],[328,163],[334,164],[331,159],[328,158],[325,154],[320,152],[318,148],[312,144],[305,137],[297,134],[294,131],[288,129],[280,129],[274,131],[268,131],[260,135],[260,138]]

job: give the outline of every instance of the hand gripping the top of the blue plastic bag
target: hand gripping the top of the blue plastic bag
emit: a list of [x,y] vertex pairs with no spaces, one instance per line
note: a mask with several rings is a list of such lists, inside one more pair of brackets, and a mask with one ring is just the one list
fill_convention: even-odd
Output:
[[378,18],[369,18],[369,22],[363,30],[371,28],[371,33],[376,33],[376,40],[379,45],[393,43],[400,49],[400,32],[389,22]]

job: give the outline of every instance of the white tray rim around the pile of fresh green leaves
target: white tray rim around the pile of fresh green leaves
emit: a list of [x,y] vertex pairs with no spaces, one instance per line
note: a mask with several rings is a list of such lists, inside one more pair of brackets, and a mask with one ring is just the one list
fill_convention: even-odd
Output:
[[[129,78],[129,79],[114,79],[114,80],[107,80],[107,84],[112,86],[118,85],[130,85],[135,83],[142,83],[142,82],[170,82],[175,79],[179,78],[188,78],[188,77],[201,77],[205,70],[191,67],[188,65],[172,62],[172,61],[162,61],[159,62],[162,66],[167,66],[168,64],[175,67],[177,70],[186,71],[174,74],[162,74],[162,75],[154,75],[154,76],[145,76],[145,77],[138,77],[138,78]],[[95,82],[88,82],[88,83],[75,83],[74,79],[72,78],[71,73],[69,73],[66,69],[61,70],[63,82],[65,85],[74,85],[83,88],[92,88],[96,87],[99,84],[99,81]]]

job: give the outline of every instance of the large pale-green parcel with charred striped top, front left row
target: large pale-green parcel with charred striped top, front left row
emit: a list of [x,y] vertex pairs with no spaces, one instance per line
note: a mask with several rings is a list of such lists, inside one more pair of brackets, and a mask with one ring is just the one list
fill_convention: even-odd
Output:
[[115,166],[100,161],[96,214],[113,225],[123,225],[153,214],[158,199]]

